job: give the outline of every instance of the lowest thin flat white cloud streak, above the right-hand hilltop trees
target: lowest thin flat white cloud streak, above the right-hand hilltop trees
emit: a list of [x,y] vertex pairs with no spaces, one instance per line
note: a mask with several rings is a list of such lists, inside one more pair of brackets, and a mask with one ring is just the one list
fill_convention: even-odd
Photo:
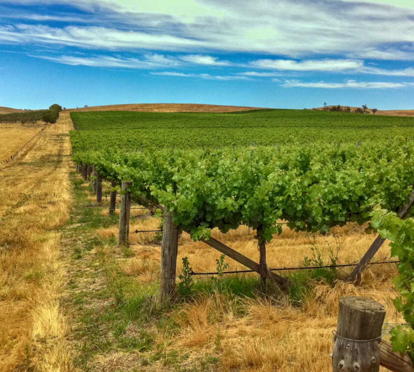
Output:
[[[280,82],[279,79],[274,80]],[[300,80],[285,80],[281,86],[285,88],[301,87],[301,88],[325,88],[325,89],[389,89],[403,88],[412,86],[412,83],[393,83],[393,82],[357,82],[356,80],[348,80],[344,83],[332,82],[301,82]]]

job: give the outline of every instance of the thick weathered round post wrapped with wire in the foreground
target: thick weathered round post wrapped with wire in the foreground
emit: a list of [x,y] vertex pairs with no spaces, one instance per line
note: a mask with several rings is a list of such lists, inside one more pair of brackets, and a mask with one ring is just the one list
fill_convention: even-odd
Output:
[[356,296],[339,300],[338,325],[332,357],[334,372],[378,372],[384,306]]

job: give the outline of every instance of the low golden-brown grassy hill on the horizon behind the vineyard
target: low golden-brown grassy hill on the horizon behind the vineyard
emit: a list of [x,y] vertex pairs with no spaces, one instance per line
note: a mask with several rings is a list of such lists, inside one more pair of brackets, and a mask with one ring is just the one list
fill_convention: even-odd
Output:
[[92,106],[70,108],[67,111],[146,111],[146,112],[211,112],[227,113],[231,111],[257,110],[259,107],[201,105],[196,103],[129,103],[125,105]]

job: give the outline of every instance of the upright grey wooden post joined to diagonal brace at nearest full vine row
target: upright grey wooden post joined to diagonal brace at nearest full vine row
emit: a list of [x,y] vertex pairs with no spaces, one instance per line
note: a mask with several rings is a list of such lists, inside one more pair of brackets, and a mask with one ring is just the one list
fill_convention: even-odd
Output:
[[178,228],[174,225],[173,216],[173,213],[164,211],[161,246],[161,301],[171,299],[176,289]]

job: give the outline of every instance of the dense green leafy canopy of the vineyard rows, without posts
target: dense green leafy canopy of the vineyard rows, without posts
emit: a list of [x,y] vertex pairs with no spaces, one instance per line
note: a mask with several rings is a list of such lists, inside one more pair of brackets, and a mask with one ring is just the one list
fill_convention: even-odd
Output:
[[[397,127],[401,137],[390,138],[397,125],[391,128],[392,118],[384,117],[384,126],[375,132],[387,140],[378,141],[367,129],[366,137],[356,141],[359,132],[354,127],[373,126],[377,117],[353,115],[350,130],[340,121],[332,127],[327,113],[294,111],[291,118],[287,113],[71,113],[81,129],[71,132],[73,156],[77,163],[94,165],[104,179],[132,181],[133,194],[166,206],[175,223],[195,239],[208,237],[215,227],[226,232],[246,224],[270,241],[281,219],[296,230],[327,232],[349,221],[369,221],[377,204],[391,211],[403,204],[414,178],[411,118],[396,118],[394,124],[404,124]],[[327,119],[318,124],[319,138],[315,133],[312,142],[303,144],[316,126],[306,126],[308,113]],[[123,121],[120,129],[111,127],[111,115],[114,127]],[[214,131],[213,138],[203,121]],[[255,126],[244,128],[243,122]],[[146,129],[123,129],[128,126]],[[338,129],[343,138],[334,136]],[[258,146],[261,140],[268,146]]]

